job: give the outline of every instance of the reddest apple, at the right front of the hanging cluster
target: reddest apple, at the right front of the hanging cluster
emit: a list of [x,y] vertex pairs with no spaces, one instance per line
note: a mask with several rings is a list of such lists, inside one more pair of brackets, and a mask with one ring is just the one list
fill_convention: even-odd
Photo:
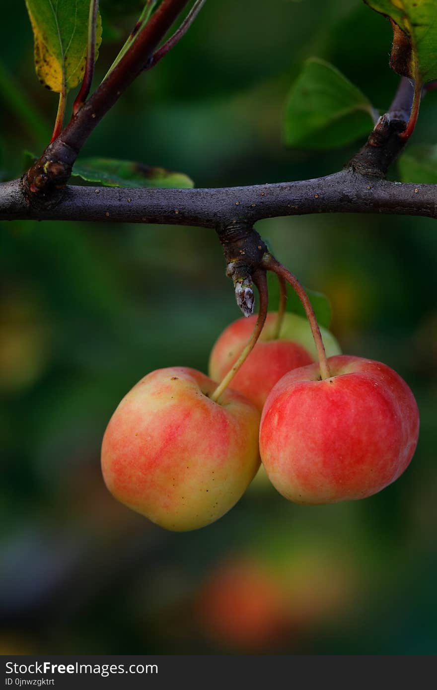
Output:
[[295,503],[371,496],[405,471],[416,449],[416,400],[393,369],[346,355],[328,362],[329,379],[320,380],[318,364],[282,377],[262,413],[262,463]]

